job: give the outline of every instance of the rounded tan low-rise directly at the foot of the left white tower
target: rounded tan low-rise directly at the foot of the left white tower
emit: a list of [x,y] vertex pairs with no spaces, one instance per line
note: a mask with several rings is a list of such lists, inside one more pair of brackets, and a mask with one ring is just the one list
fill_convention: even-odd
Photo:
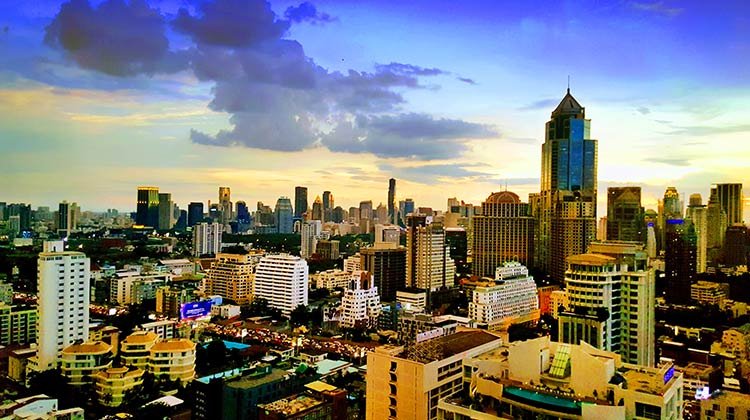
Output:
[[101,341],[72,344],[63,349],[60,373],[70,385],[91,383],[92,375],[112,366],[112,347]]

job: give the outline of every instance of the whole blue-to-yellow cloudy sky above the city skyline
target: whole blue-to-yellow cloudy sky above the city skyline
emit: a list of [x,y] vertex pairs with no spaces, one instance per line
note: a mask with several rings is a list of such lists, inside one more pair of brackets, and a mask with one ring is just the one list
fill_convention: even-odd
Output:
[[526,197],[568,77],[600,216],[611,186],[750,185],[744,0],[3,0],[0,201]]

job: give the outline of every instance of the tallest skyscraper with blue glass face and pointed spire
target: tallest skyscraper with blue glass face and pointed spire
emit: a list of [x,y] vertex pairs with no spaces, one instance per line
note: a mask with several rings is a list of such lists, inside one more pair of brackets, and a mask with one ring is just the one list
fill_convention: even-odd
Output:
[[537,219],[535,266],[556,281],[565,277],[566,259],[586,252],[596,237],[597,140],[590,127],[568,89],[546,124],[541,192],[529,197]]

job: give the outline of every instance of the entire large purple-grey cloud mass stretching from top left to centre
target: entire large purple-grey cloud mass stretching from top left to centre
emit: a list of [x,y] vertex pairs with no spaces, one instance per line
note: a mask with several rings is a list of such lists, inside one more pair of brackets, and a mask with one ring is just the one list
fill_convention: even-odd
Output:
[[449,72],[398,62],[331,72],[286,38],[292,23],[332,19],[310,3],[280,18],[263,0],[204,2],[180,9],[171,21],[194,41],[176,53],[165,35],[167,18],[142,0],[107,0],[96,9],[87,0],[71,0],[50,25],[48,42],[79,66],[115,76],[164,71],[165,62],[184,58],[199,80],[214,84],[208,106],[230,114],[227,129],[191,130],[195,143],[278,151],[323,145],[440,159],[463,153],[467,139],[497,135],[482,124],[403,113],[404,90],[433,89],[422,79]]

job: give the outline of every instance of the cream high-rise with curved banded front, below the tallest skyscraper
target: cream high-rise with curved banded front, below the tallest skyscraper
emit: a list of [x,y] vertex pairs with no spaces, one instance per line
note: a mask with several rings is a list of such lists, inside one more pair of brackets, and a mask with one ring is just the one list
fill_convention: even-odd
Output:
[[594,242],[568,258],[567,311],[558,314],[559,341],[585,341],[623,360],[654,364],[654,270],[638,242]]

